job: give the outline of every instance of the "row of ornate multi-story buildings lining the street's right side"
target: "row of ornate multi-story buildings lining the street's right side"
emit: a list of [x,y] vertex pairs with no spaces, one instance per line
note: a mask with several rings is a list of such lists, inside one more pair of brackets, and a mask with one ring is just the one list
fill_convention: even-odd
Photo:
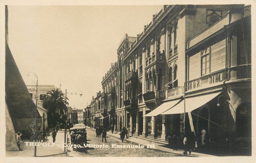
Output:
[[199,139],[202,129],[211,140],[250,138],[251,94],[242,91],[251,92],[250,14],[243,5],[164,5],[137,37],[121,40],[94,117],[101,108],[108,128],[164,140]]

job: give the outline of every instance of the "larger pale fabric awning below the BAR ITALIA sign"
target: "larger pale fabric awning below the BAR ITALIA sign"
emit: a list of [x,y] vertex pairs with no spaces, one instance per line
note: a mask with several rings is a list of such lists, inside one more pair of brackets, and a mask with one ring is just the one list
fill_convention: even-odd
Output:
[[[186,113],[191,112],[191,111],[199,108],[200,106],[208,103],[214,97],[218,96],[220,93],[221,92],[216,92],[216,93],[211,93],[211,94],[207,94],[207,95],[186,98],[185,99]],[[180,114],[180,113],[184,113],[184,100],[182,100],[178,105],[174,106],[172,109],[169,109],[161,114]]]

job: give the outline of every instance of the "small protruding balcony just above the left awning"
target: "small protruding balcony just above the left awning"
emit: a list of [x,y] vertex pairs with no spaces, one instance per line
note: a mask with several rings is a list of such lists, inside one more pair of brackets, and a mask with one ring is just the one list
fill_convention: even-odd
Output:
[[149,107],[150,109],[153,109],[157,105],[160,105],[163,99],[163,91],[155,90],[155,91],[144,93],[143,98],[146,106]]

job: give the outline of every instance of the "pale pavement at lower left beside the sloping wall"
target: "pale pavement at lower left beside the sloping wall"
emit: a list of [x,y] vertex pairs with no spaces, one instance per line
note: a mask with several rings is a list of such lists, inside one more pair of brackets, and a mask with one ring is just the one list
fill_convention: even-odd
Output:
[[[48,139],[49,139],[49,145],[48,144],[47,146],[40,145],[36,147],[37,157],[47,157],[52,155],[60,155],[61,157],[63,157],[67,155],[66,152],[64,152],[64,147],[62,148],[62,144],[64,144],[64,130],[59,131],[57,133],[56,142],[54,144],[52,143],[52,136],[48,136]],[[28,143],[28,146],[26,146],[25,142],[28,142],[29,140],[22,139],[22,141],[23,143],[21,144],[21,148],[24,151],[6,151],[5,156],[6,157],[34,157],[35,146],[30,146],[29,143]],[[43,142],[43,140],[41,140],[41,142]]]

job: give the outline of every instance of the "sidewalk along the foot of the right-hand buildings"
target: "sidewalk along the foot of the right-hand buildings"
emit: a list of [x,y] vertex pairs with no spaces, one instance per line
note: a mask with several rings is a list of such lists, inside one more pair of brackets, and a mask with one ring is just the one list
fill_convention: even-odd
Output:
[[[90,129],[90,128],[87,128]],[[91,130],[95,130],[95,129],[91,129]],[[118,133],[111,133],[110,131],[107,132],[107,136],[113,136],[116,138],[120,139],[120,132]],[[144,139],[140,139],[140,138],[136,138],[136,137],[129,137],[128,139],[124,139],[126,140],[126,142],[128,143],[132,143],[132,144],[141,144],[146,146],[147,144],[154,144],[155,145],[155,149],[154,150],[160,150],[160,151],[165,151],[165,152],[170,152],[170,153],[175,153],[175,154],[182,154],[183,150],[177,150],[177,151],[173,151],[173,149],[169,148],[167,145],[164,144],[160,144],[160,143],[155,143],[149,140],[144,140]],[[198,152],[193,152],[190,155],[187,156],[191,156],[191,157],[209,157],[209,156],[214,156],[214,155],[209,155],[209,154],[204,154],[204,153],[198,153]]]

